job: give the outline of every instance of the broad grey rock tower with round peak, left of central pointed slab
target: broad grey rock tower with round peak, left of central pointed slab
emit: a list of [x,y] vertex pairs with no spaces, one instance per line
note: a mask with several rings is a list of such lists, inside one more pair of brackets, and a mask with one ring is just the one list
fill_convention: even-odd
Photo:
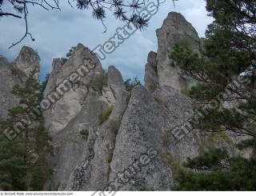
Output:
[[[59,81],[85,58],[96,63],[95,69],[45,111],[55,149],[54,158],[49,160],[54,174],[46,190],[96,190],[108,182],[115,139],[110,125],[121,122],[128,102],[120,72],[110,66],[104,73],[98,58],[78,44],[69,59],[54,59],[44,94],[49,97]],[[106,106],[114,106],[114,110],[109,120],[100,125],[98,116]],[[82,139],[81,130],[89,131],[88,140]]]

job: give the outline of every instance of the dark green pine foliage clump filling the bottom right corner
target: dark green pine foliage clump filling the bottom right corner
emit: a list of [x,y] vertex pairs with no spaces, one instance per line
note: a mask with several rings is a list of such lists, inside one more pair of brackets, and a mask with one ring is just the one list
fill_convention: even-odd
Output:
[[178,185],[175,189],[256,190],[256,158],[228,158],[229,168],[221,163],[226,158],[225,151],[211,150],[198,158],[190,159],[185,164],[190,169],[178,171]]

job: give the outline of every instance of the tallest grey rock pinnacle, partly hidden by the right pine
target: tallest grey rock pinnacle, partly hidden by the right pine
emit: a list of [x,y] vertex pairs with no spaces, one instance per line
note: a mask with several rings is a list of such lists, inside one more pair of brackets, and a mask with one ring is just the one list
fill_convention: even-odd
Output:
[[[156,30],[158,37],[158,53],[157,53],[157,75],[159,86],[171,86],[174,89],[182,90],[194,85],[194,81],[186,78],[170,53],[174,49],[175,44],[188,46],[194,52],[200,54],[201,40],[194,27],[186,21],[182,14],[170,12],[164,20],[162,27]],[[149,65],[147,64],[146,67]],[[150,70],[149,68],[146,70]],[[145,83],[146,87],[151,85],[152,79],[146,71]],[[152,71],[149,71],[152,73]],[[155,79],[153,79],[154,81]]]

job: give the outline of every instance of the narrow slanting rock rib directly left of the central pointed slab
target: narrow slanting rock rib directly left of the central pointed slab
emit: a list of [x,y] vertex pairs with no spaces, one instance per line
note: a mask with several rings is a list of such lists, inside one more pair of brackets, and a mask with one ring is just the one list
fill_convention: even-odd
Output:
[[[88,166],[80,173],[82,178],[88,180],[84,182],[80,188],[76,187],[75,190],[103,190],[108,185],[110,178],[110,162],[112,161],[116,134],[118,133],[118,126],[122,121],[122,115],[124,114],[127,104],[129,102],[129,94],[126,91],[122,91],[118,94],[117,102],[115,103],[114,110],[112,111],[110,118],[104,122],[101,126],[98,126],[96,130],[96,139],[94,141],[94,157],[86,157]],[[116,126],[116,127],[114,127]],[[77,170],[82,169],[82,164]],[[73,173],[74,176],[74,173]],[[74,184],[79,182],[79,178],[73,178],[70,181],[70,190],[74,190]]]

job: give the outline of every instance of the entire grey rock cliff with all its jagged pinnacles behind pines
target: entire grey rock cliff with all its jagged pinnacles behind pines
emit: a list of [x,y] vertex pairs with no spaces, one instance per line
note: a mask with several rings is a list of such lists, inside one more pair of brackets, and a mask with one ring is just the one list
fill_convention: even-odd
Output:
[[[178,13],[157,30],[158,52],[150,52],[145,87],[127,92],[122,75],[78,44],[70,58],[57,58],[44,92],[46,128],[52,137],[53,174],[45,190],[172,190],[177,166],[211,147],[238,153],[229,137],[173,130],[194,115],[193,102],[179,90],[194,84],[169,58],[175,43],[200,52],[201,39]],[[22,48],[14,63],[0,57],[0,114],[17,104],[10,90],[22,83],[39,58]],[[15,74],[15,67],[23,70]]]

